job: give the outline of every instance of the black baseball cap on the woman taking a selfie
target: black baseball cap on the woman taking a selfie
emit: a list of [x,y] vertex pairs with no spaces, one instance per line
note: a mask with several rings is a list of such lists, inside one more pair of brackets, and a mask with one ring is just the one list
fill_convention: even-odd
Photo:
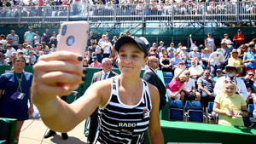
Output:
[[120,47],[125,43],[135,43],[138,48],[143,50],[145,55],[148,55],[148,48],[146,43],[140,37],[120,37],[119,40],[115,43],[114,49],[119,51]]

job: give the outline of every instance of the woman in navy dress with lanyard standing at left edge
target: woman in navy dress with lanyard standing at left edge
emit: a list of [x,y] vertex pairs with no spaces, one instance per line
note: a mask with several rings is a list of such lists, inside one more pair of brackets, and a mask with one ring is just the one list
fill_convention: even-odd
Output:
[[[15,141],[19,142],[20,129],[24,120],[32,115],[33,105],[30,99],[32,73],[24,72],[26,60],[15,57],[13,72],[0,76],[0,118],[16,118]],[[27,102],[30,107],[27,107]]]

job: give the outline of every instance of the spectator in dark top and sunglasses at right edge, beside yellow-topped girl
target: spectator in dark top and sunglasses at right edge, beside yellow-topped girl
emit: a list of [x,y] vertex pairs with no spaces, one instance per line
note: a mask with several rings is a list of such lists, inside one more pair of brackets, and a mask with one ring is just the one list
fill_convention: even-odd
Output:
[[254,75],[255,75],[254,71],[249,70],[249,71],[247,71],[247,74],[245,77],[241,77],[241,79],[243,80],[244,84],[247,87],[247,92],[248,92],[247,99],[246,99],[247,104],[253,104],[252,93],[254,92],[253,89],[255,89],[255,88],[253,88]]

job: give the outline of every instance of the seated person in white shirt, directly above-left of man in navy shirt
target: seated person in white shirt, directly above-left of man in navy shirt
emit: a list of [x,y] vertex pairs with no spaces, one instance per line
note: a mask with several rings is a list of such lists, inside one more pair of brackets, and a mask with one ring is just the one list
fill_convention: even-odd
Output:
[[192,79],[195,80],[195,82],[197,81],[197,78],[200,78],[203,73],[204,70],[201,67],[201,65],[197,65],[197,60],[191,60],[191,67],[189,67],[189,72],[190,72],[190,76]]

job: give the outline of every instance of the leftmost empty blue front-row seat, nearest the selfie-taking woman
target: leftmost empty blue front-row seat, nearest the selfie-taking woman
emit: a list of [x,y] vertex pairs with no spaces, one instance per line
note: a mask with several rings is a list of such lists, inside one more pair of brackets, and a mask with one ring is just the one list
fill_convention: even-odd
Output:
[[183,121],[183,102],[180,100],[169,101],[170,120]]

